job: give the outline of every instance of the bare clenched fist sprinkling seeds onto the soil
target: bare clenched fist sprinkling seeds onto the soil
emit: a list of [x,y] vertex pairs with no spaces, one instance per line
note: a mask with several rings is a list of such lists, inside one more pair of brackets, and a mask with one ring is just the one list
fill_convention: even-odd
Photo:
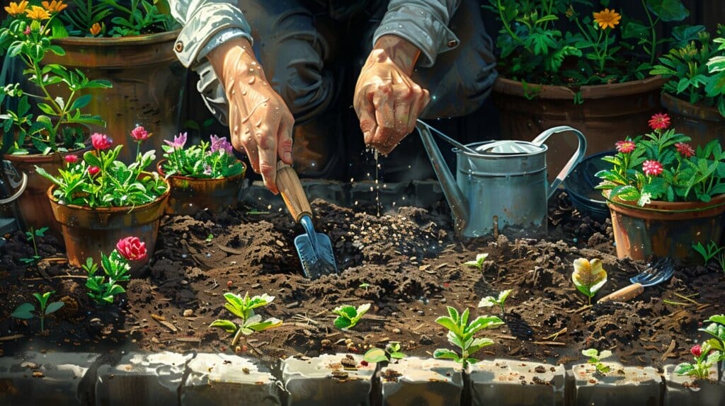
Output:
[[387,155],[415,129],[428,105],[428,90],[410,75],[421,51],[396,35],[383,35],[370,52],[355,85],[353,106],[365,144]]

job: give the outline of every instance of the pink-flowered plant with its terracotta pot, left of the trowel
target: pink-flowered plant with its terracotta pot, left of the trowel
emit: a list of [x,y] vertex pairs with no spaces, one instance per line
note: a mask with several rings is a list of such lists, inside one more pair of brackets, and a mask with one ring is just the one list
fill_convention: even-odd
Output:
[[[140,151],[146,138],[138,137],[136,160],[130,165],[117,159],[123,145],[112,148],[107,135],[94,133],[94,149],[83,156],[66,156],[67,166],[58,176],[36,169],[54,184],[47,196],[55,219],[62,224],[72,266],[82,266],[86,258],[101,261],[100,253],[111,252],[128,235],[146,242],[149,257],[153,255],[170,186],[157,172],[145,171],[156,159],[155,151]],[[148,258],[138,261],[132,270],[147,262]]]

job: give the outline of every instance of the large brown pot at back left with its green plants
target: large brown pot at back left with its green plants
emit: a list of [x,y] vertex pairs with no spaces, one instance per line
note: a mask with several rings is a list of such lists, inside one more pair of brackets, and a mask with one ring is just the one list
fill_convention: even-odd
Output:
[[[54,41],[65,48],[65,55],[53,56],[49,63],[65,64],[113,84],[113,90],[102,96],[104,103],[95,103],[91,112],[106,118],[109,134],[125,135],[119,143],[133,145],[128,128],[140,122],[155,134],[175,132],[187,71],[174,54],[180,30],[167,2],[70,0],[69,4],[62,22],[70,35]],[[100,96],[93,89],[84,94]],[[104,131],[96,126],[91,130]],[[160,151],[161,141],[150,140],[145,151]],[[133,161],[133,148],[119,157]]]

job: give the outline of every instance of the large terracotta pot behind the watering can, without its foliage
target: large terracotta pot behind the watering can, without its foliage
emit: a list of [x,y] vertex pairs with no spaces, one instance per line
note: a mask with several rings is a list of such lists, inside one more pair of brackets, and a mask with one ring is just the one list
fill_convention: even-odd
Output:
[[[566,86],[524,85],[499,77],[492,99],[501,121],[500,138],[531,141],[544,130],[568,125],[587,137],[587,154],[608,151],[618,140],[649,132],[647,120],[662,110],[660,88],[665,82],[665,78],[657,76],[612,85],[581,86],[583,103],[577,104],[576,90]],[[576,151],[576,142],[573,136],[547,140],[550,177],[558,174],[572,151]]]

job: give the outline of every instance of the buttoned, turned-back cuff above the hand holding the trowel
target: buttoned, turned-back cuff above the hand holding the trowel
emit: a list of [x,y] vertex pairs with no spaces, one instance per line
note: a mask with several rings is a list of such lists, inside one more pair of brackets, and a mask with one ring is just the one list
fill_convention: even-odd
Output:
[[235,36],[244,36],[252,43],[251,32],[247,19],[236,7],[231,4],[208,4],[186,21],[176,38],[174,51],[181,64],[190,67],[221,43],[212,42],[212,46],[206,48],[210,41],[220,38],[226,41]]

